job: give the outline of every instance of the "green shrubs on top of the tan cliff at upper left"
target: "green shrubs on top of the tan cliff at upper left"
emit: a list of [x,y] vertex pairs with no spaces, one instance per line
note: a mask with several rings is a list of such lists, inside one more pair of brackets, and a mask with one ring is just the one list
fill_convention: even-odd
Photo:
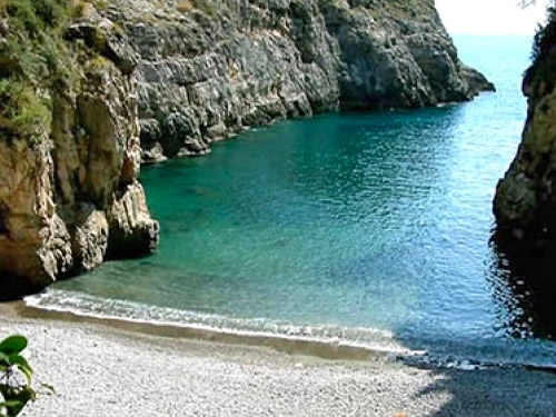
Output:
[[0,1],[0,137],[44,137],[49,90],[71,77],[62,40],[69,13],[66,0]]

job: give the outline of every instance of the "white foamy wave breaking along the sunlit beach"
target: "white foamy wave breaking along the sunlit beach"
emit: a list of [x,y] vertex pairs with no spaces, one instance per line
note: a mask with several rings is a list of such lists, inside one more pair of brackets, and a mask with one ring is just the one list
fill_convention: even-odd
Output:
[[280,338],[365,349],[369,353],[416,355],[399,345],[387,330],[334,325],[295,325],[268,319],[242,319],[175,308],[149,306],[133,301],[106,299],[73,291],[47,290],[24,298],[28,307],[99,319],[172,326],[237,336]]

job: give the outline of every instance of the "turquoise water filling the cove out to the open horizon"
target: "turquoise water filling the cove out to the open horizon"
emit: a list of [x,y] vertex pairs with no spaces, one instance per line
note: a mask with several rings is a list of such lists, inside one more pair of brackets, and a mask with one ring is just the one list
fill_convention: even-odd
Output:
[[489,242],[495,186],[526,116],[530,41],[456,41],[496,95],[281,122],[146,168],[159,252],[29,302],[556,366],[556,335]]

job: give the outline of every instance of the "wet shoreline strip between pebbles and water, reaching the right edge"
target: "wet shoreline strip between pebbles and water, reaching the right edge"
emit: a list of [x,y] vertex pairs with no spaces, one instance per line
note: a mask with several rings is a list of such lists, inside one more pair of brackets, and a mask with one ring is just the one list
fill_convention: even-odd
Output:
[[[0,315],[1,315],[0,304]],[[300,355],[315,357],[326,360],[348,360],[348,361],[383,361],[383,363],[399,363],[413,367],[424,367],[429,369],[437,368],[457,368],[463,370],[477,370],[489,368],[524,368],[529,370],[542,370],[556,375],[556,365],[554,360],[546,361],[544,357],[535,357],[537,360],[513,359],[514,350],[507,350],[507,357],[489,356],[474,353],[471,350],[457,350],[456,346],[451,346],[451,350],[437,351],[434,346],[429,346],[427,350],[423,346],[408,347],[404,342],[398,341],[396,337],[390,335],[388,339],[360,339],[354,338],[353,335],[327,331],[319,332],[321,326],[304,328],[299,325],[292,326],[292,330],[286,328],[281,330],[271,328],[249,328],[231,326],[214,325],[210,321],[205,322],[190,321],[189,319],[181,320],[165,320],[159,318],[150,318],[149,316],[137,316],[135,311],[123,311],[123,314],[99,314],[96,309],[79,310],[71,307],[62,307],[58,305],[41,305],[40,300],[31,299],[19,300],[11,302],[11,306],[6,308],[12,315],[31,319],[48,319],[61,322],[78,322],[85,325],[100,325],[121,331],[130,331],[136,334],[145,334],[157,337],[169,337],[176,339],[196,339],[208,342],[218,342],[226,345],[249,346],[249,347],[266,347],[275,349],[281,354],[291,356]],[[228,324],[230,325],[230,324]],[[326,327],[326,326],[325,326]],[[315,334],[314,330],[317,329]],[[366,328],[345,328],[354,331],[367,330]],[[381,330],[377,330],[381,331]],[[430,342],[429,342],[430,344]],[[409,345],[411,346],[411,345]],[[456,350],[454,350],[456,348]],[[500,347],[498,347],[500,348]],[[509,349],[509,347],[508,347]],[[553,358],[554,359],[554,358]]]

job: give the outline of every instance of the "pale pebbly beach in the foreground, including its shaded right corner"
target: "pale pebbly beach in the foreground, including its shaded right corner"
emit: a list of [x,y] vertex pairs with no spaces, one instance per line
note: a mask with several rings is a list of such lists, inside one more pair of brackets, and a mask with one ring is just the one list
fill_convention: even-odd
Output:
[[[19,310],[19,312],[18,312]],[[325,360],[266,347],[29,317],[0,305],[0,335],[30,339],[37,381],[23,416],[556,416],[556,375]]]

